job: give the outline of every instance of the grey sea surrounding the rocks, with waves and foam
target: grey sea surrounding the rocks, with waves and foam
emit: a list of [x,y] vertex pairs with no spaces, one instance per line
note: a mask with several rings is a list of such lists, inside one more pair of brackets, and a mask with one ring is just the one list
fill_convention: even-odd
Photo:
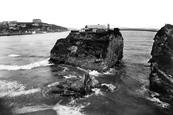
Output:
[[0,115],[173,115],[149,90],[156,32],[121,31],[121,64],[103,73],[87,70],[110,90],[95,88],[83,98],[49,93],[59,81],[82,76],[82,68],[49,63],[56,41],[69,33],[0,37]]

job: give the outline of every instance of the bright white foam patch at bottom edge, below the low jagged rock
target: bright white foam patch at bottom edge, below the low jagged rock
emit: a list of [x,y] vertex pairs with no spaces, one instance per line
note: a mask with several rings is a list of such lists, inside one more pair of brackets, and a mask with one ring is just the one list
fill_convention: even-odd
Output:
[[81,109],[84,106],[65,106],[65,105],[60,105],[59,103],[55,105],[53,110],[57,112],[58,115],[85,115],[84,113],[81,112]]

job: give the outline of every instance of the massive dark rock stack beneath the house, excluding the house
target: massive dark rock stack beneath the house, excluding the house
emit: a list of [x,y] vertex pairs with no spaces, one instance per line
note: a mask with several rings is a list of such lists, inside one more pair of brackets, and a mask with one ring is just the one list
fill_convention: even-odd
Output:
[[53,63],[70,64],[104,71],[123,57],[123,38],[119,29],[102,32],[71,32],[57,40],[51,50]]

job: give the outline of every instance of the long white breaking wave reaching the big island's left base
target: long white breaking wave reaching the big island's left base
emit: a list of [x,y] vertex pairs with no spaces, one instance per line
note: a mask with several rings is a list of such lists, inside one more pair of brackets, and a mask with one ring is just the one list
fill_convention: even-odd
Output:
[[43,66],[49,66],[51,65],[48,61],[49,59],[34,62],[28,65],[0,65],[0,70],[27,70],[32,69],[36,67],[43,67]]

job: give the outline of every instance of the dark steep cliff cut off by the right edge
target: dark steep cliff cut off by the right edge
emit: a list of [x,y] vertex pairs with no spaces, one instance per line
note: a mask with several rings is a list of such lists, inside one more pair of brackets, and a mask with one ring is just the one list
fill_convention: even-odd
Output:
[[157,32],[151,55],[150,89],[173,105],[173,25],[167,24]]

